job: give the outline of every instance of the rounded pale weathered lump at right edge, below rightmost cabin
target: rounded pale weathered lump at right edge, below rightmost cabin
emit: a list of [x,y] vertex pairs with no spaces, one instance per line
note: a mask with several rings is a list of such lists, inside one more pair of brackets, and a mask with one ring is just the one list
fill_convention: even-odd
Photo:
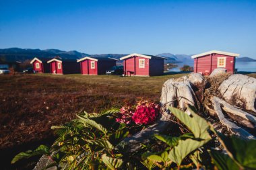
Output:
[[256,79],[246,75],[231,75],[218,88],[226,101],[243,105],[245,110],[256,113]]

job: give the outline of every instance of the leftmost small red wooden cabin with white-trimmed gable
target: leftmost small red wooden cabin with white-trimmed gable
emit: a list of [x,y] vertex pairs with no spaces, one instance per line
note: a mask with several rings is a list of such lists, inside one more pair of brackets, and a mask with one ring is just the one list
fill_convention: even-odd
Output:
[[33,65],[33,70],[36,73],[50,73],[50,65],[47,63],[49,58],[38,58],[35,57],[31,60],[30,64]]

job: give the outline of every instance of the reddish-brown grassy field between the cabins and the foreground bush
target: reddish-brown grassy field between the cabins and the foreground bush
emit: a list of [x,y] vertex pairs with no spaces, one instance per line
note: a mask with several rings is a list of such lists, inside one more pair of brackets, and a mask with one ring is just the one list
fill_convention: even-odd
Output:
[[[75,118],[78,112],[121,108],[138,97],[158,102],[164,81],[186,74],[159,77],[82,75],[1,75],[0,156],[11,157],[54,140],[51,126]],[[256,77],[256,74],[251,74]],[[30,169],[34,165],[30,166]],[[25,167],[26,169],[26,167]]]

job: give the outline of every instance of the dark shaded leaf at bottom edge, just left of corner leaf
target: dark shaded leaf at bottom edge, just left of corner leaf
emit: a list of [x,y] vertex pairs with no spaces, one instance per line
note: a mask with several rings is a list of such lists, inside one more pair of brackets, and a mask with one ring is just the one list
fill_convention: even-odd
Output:
[[214,150],[212,150],[210,154],[214,160],[214,165],[216,165],[219,170],[239,169],[238,165],[230,157],[228,157],[228,155],[224,155],[223,153]]

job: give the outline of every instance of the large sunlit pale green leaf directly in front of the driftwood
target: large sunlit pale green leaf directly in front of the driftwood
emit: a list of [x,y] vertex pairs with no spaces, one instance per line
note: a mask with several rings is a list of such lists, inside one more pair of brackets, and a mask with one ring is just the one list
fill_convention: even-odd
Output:
[[209,124],[207,124],[203,118],[195,114],[193,110],[189,108],[189,111],[191,112],[191,116],[189,116],[177,108],[169,107],[168,109],[170,112],[172,112],[172,114],[174,114],[174,116],[181,120],[181,122],[183,122],[183,124],[185,124],[191,130],[191,132],[193,132],[195,138],[210,140],[211,137],[207,132],[207,130],[210,128]]

